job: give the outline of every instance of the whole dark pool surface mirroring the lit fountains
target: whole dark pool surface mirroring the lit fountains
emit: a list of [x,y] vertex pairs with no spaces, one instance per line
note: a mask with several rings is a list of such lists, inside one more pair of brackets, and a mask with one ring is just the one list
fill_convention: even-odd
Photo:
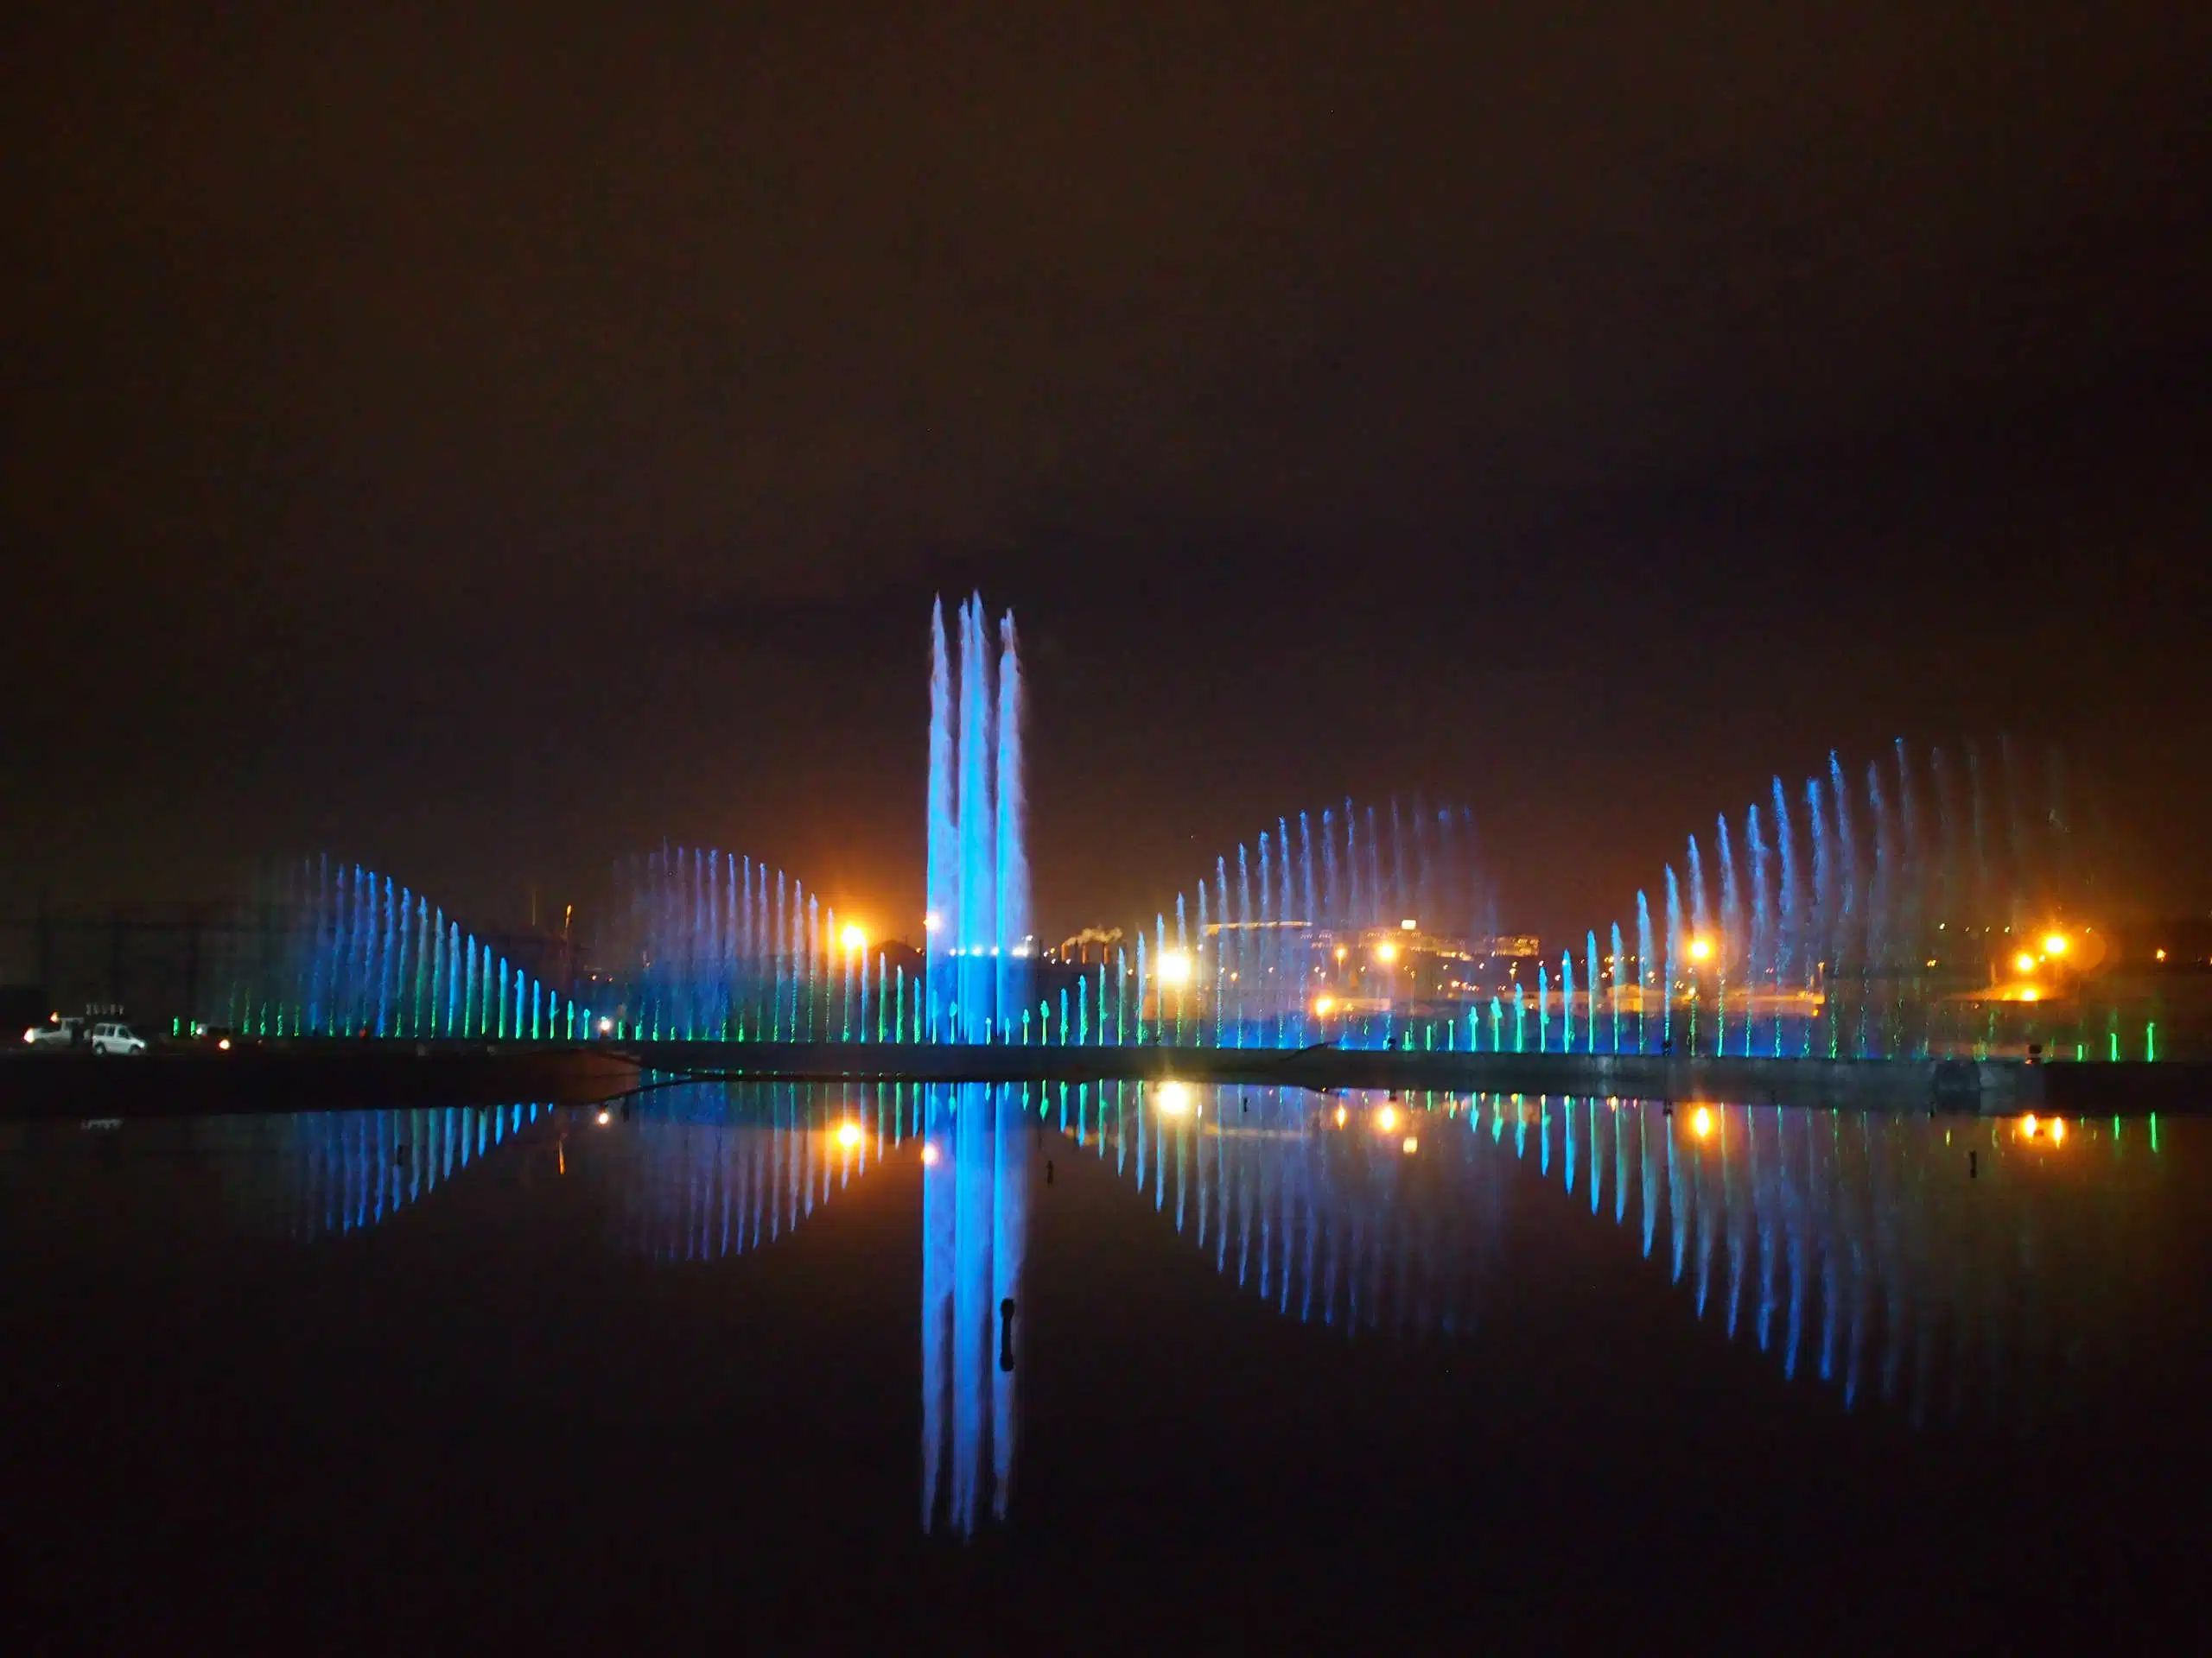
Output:
[[0,1127],[33,1645],[2185,1638],[2199,1121],[1135,1085]]

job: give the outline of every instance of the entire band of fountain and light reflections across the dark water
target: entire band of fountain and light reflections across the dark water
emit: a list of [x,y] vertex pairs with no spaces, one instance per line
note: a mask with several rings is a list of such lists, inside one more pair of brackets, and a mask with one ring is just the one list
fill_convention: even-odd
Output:
[[[1006,1519],[1042,1161],[1110,1169],[1197,1262],[1347,1340],[1475,1344],[1564,1229],[1686,1329],[1900,1421],[2035,1430],[2161,1315],[2194,1125],[1274,1088],[686,1085],[538,1105],[0,1127],[0,1196],[190,1163],[195,1216],[325,1247],[500,1169],[580,1174],[624,1256],[770,1249],[896,1158],[920,1178],[920,1517]],[[1064,1138],[1060,1138],[1064,1136]],[[920,1141],[920,1147],[909,1145]],[[66,1152],[66,1156],[58,1156]],[[210,1198],[212,1194],[212,1198]],[[905,1267],[902,1267],[905,1271]],[[1573,1289],[1571,1284],[1566,1289]]]

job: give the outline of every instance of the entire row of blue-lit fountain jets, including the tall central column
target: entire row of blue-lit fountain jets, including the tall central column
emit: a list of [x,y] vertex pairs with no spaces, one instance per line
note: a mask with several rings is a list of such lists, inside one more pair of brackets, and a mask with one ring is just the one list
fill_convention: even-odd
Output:
[[1995,765],[1971,745],[1916,765],[1900,741],[1856,787],[1829,756],[1803,789],[1774,778],[1719,816],[1659,904],[1639,891],[1579,959],[1506,962],[1469,809],[1347,798],[1276,818],[1172,917],[1046,977],[1022,776],[1013,617],[971,597],[947,630],[938,604],[916,970],[781,869],[661,849],[619,871],[626,973],[593,1012],[407,886],[321,860],[263,882],[276,920],[223,1015],[385,1037],[1929,1052],[2035,999],[1989,984],[1991,940],[2093,886],[2055,760],[2031,807],[2008,745]]

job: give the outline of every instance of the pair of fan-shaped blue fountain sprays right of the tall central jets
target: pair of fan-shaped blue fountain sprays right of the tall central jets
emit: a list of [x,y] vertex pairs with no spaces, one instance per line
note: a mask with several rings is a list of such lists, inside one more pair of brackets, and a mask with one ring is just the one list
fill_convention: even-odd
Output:
[[[1989,774],[1989,776],[1984,776]],[[1279,818],[1223,853],[1197,902],[1139,928],[1135,970],[1079,986],[1075,1035],[1219,1048],[1931,1059],[2154,1057],[2084,997],[2106,955],[2055,763],[2039,789],[2000,749],[1964,774],[1902,743],[1851,785],[1838,756],[1792,796],[1688,838],[1635,944],[1608,926],[1509,959],[1471,818],[1394,802]],[[2035,794],[2037,805],[2024,800]],[[1409,829],[1411,825],[1411,829]],[[1710,856],[1708,856],[1710,853]],[[1234,864],[1234,867],[1232,867]],[[1657,915],[1655,915],[1657,909]],[[1197,926],[1188,926],[1194,911]],[[1398,928],[1405,928],[1400,935]],[[1093,1006],[1095,995],[1095,1006]],[[1066,1030],[1068,1021],[1062,1021]]]

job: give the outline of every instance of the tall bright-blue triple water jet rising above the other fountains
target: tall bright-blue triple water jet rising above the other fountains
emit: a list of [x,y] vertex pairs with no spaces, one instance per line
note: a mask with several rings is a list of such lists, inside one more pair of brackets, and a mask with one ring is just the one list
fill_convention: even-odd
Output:
[[942,599],[929,617],[927,880],[931,1039],[1020,1039],[1029,997],[1022,665],[1011,610],[993,654],[982,595],[960,606],[958,681]]

